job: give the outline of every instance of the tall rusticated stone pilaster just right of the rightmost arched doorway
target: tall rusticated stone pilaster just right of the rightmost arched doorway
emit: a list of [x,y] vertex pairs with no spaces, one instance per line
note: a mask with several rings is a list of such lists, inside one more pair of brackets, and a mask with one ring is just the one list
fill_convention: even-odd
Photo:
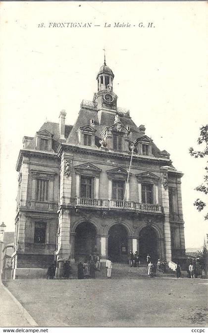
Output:
[[169,196],[168,196],[168,168],[161,167],[161,194],[162,206],[164,210],[164,247],[166,261],[172,260],[171,255],[171,235],[170,235],[170,221],[169,221]]

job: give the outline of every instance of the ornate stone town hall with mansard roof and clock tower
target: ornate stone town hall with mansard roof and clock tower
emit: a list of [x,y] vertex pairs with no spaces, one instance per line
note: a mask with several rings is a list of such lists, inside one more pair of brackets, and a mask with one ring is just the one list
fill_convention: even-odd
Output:
[[19,152],[13,278],[41,277],[56,262],[127,263],[129,251],[152,260],[185,259],[181,172],[129,110],[117,106],[114,74],[97,74],[93,100],[75,124],[45,122]]

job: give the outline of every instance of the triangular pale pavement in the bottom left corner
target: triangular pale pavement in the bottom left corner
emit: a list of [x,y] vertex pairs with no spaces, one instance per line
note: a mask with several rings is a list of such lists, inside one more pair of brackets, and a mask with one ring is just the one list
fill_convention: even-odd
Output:
[[0,281],[0,327],[30,327],[37,323]]

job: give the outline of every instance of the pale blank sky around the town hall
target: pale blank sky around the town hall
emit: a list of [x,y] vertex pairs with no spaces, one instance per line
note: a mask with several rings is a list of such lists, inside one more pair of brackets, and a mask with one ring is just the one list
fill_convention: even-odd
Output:
[[[92,100],[97,90],[105,48],[118,106],[130,109],[137,126],[145,125],[184,173],[185,243],[202,246],[208,222],[193,202],[206,199],[194,190],[206,161],[188,150],[200,148],[199,129],[208,122],[207,3],[2,2],[0,16],[0,222],[6,231],[14,230],[23,136],[35,136],[46,119],[58,122],[62,109],[73,125],[82,99]],[[49,27],[58,22],[92,24]]]

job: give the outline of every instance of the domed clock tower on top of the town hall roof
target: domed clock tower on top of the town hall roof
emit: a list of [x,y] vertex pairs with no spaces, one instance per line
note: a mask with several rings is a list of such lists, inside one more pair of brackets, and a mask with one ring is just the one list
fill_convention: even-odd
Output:
[[94,102],[98,103],[98,111],[106,110],[115,113],[117,110],[117,95],[113,92],[112,70],[106,65],[105,57],[104,64],[101,66],[96,80],[98,81],[98,92],[94,95]]

